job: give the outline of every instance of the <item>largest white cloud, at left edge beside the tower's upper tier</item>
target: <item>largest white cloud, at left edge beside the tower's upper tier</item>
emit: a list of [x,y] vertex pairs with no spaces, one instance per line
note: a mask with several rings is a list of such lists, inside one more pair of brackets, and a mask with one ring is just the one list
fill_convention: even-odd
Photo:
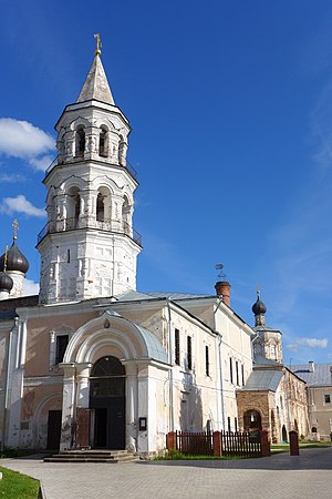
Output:
[[0,118],[0,153],[30,159],[54,147],[54,139],[28,121]]

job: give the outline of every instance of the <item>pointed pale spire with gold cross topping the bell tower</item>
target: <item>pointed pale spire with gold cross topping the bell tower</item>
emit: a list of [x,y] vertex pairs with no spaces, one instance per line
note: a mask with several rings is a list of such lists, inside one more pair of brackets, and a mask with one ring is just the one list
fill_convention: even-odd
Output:
[[76,102],[95,100],[115,105],[107,77],[101,61],[101,37],[100,34],[94,34],[94,38],[96,39],[97,44],[94,60]]

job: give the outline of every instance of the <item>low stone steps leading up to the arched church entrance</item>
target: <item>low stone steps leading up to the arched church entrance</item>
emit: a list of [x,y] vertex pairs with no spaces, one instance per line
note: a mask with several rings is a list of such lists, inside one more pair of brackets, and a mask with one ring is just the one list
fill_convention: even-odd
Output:
[[63,450],[44,458],[44,462],[133,462],[139,457],[127,450]]

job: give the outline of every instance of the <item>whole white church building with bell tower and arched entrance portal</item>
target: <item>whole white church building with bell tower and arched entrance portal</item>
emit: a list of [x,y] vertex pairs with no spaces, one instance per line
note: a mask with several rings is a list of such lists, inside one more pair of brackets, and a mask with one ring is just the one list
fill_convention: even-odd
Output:
[[[37,244],[39,296],[22,296],[29,263],[15,226],[0,258],[2,448],[127,449],[148,457],[164,451],[172,430],[247,428],[248,410],[261,411],[259,424],[270,430],[279,417],[272,431],[281,439],[281,428],[293,425],[278,403],[284,393],[278,387],[291,375],[280,333],[262,317],[253,329],[246,324],[230,306],[226,281],[211,295],[136,291],[142,238],[133,227],[138,184],[126,159],[131,125],[114,102],[100,44],[55,130],[58,156],[43,181],[48,221]],[[258,356],[272,380],[255,403]]]

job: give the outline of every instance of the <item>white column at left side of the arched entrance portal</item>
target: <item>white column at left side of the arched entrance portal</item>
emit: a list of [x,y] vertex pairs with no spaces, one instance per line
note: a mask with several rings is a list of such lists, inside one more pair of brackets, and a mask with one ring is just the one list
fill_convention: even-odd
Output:
[[75,411],[75,371],[74,364],[60,364],[63,368],[63,399],[60,450],[72,447],[72,429]]

